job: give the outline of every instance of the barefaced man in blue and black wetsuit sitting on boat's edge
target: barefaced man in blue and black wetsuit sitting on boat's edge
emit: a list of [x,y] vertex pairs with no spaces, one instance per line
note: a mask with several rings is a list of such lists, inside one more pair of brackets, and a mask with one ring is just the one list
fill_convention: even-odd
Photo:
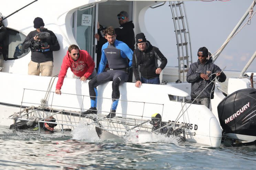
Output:
[[[112,107],[107,118],[114,118],[120,97],[119,85],[128,80],[133,52],[124,42],[116,40],[116,33],[113,27],[108,27],[104,33],[108,42],[102,46],[102,57],[99,63],[98,75],[89,81],[91,107],[81,114],[97,114],[97,86],[113,81]],[[130,60],[129,63],[127,58]],[[110,70],[103,72],[107,61]]]

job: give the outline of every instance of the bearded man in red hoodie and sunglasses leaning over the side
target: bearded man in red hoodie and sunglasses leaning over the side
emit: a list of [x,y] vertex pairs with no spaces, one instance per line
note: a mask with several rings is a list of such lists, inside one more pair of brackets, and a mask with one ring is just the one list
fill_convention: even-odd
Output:
[[61,71],[56,84],[56,94],[61,95],[61,86],[68,68],[71,69],[74,75],[81,77],[81,81],[90,80],[97,75],[95,63],[90,54],[85,50],[79,50],[77,45],[71,45],[68,47],[67,54],[61,65]]

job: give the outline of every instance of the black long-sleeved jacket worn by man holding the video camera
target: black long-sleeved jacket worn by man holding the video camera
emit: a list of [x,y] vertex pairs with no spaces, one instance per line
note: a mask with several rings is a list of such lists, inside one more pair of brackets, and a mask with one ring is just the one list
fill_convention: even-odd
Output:
[[[44,39],[42,39],[42,41],[48,42],[48,44],[50,45],[50,51],[38,52],[38,51],[31,50],[31,61],[33,61],[33,62],[41,63],[41,62],[45,62],[45,61],[53,61],[52,51],[60,50],[60,44],[58,43],[58,40],[57,40],[57,37],[55,36],[55,34],[50,30],[47,30],[46,32],[50,33],[50,37],[44,38]],[[28,34],[28,36],[26,36],[26,38],[22,44],[22,47],[24,49],[27,49],[30,47],[31,42],[34,41],[34,36],[36,34],[38,34],[38,32],[36,30],[34,30],[34,31],[31,31]]]

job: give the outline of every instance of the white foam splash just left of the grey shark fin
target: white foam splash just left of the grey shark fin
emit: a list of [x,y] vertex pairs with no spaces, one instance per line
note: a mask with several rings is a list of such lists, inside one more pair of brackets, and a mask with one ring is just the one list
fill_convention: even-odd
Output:
[[100,139],[95,131],[95,126],[88,126],[87,122],[81,121],[71,132],[73,139],[84,142],[99,142]]

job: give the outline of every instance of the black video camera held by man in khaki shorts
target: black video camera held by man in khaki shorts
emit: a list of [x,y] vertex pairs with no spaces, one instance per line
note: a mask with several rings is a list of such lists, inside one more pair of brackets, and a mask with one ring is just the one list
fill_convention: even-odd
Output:
[[40,33],[36,34],[36,36],[38,36],[38,38],[36,40],[32,41],[31,46],[30,46],[32,51],[43,52],[43,49],[41,49],[41,48],[47,47],[49,45],[48,42],[43,41],[43,39],[50,37],[50,33],[45,32],[46,30],[47,30],[46,28],[40,29]]

